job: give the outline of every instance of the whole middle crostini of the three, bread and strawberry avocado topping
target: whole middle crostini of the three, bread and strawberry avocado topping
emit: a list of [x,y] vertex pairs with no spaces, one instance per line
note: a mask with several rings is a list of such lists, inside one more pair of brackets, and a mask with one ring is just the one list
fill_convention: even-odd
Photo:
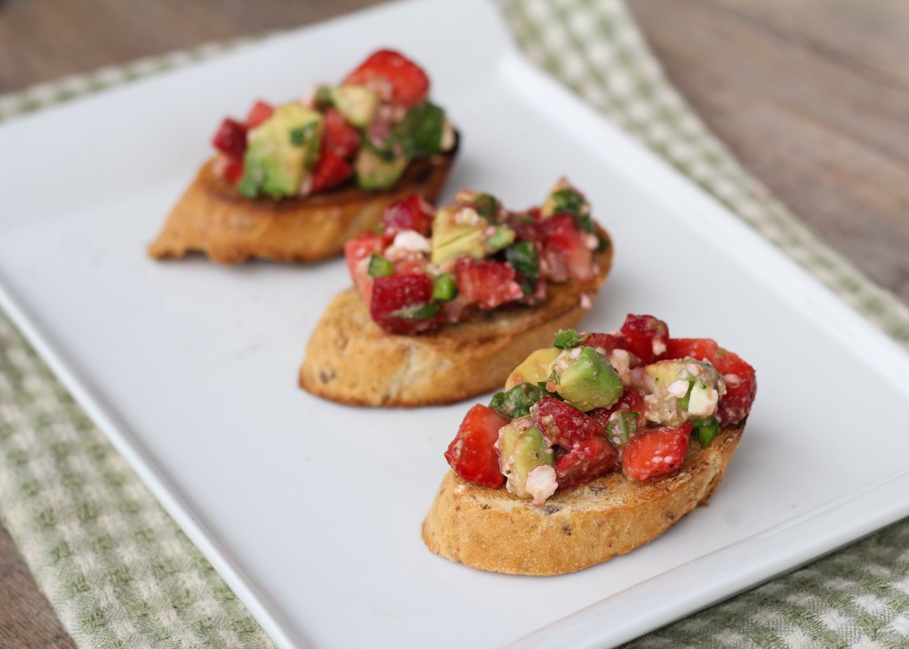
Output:
[[486,193],[459,192],[437,211],[411,196],[345,254],[355,288],[316,325],[300,386],[339,403],[413,407],[494,390],[554,329],[576,326],[612,246],[562,179],[526,211]]

